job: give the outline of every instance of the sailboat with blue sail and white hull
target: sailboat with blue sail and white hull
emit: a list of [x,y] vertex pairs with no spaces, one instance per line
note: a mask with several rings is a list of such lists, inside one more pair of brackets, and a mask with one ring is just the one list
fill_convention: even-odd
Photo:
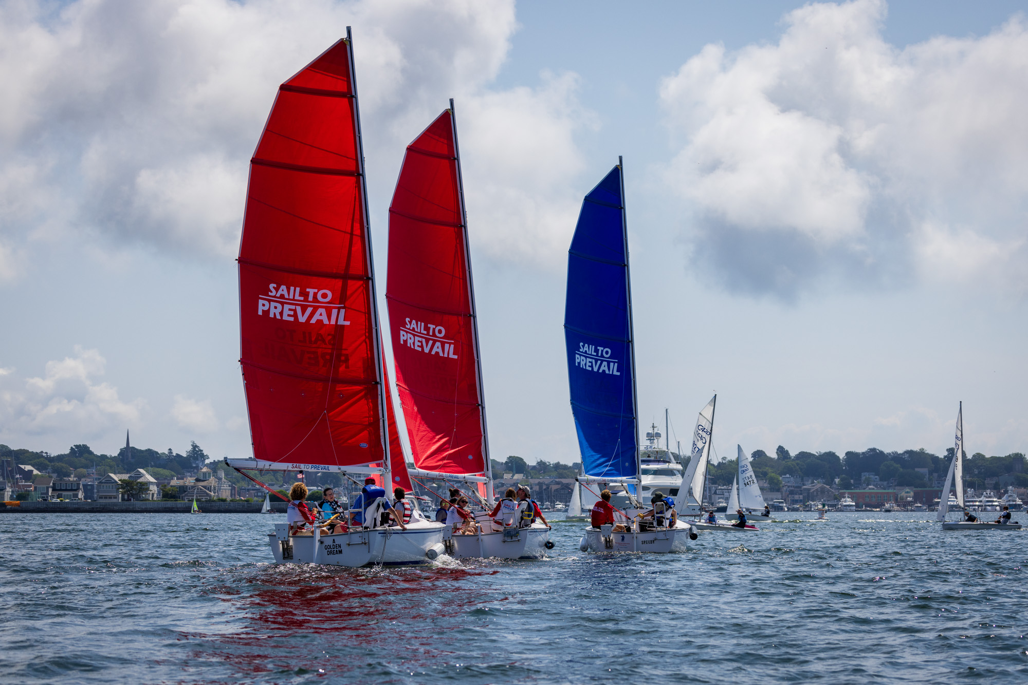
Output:
[[[564,341],[572,414],[582,454],[577,482],[594,498],[604,487],[612,493],[616,521],[590,526],[579,543],[583,550],[657,551],[684,549],[688,524],[646,530],[639,501],[642,480],[635,352],[632,329],[628,231],[621,158],[585,196],[567,252]],[[594,500],[595,501],[595,500]],[[621,506],[619,506],[619,504]],[[646,527],[649,528],[649,527]]]

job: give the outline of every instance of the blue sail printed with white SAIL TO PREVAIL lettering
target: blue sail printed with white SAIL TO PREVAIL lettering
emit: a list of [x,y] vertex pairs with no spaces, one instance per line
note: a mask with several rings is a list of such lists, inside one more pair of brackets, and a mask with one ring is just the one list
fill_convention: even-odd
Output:
[[593,188],[567,251],[564,341],[586,475],[636,474],[631,299],[621,167]]

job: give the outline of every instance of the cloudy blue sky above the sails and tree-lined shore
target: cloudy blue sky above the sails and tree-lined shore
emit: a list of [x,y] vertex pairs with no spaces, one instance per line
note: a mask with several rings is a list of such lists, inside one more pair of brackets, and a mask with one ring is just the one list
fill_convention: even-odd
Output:
[[252,456],[248,160],[353,26],[379,279],[455,99],[493,458],[579,460],[566,251],[618,155],[642,431],[717,392],[723,456],[939,454],[962,401],[968,453],[1028,452],[1026,5],[7,0],[0,442]]

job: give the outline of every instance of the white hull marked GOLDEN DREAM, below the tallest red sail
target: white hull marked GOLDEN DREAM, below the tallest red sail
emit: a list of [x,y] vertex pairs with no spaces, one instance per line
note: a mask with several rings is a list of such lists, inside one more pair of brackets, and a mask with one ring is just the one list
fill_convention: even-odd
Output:
[[[443,541],[443,524],[418,522],[400,528],[354,530],[336,535],[284,535],[276,526],[268,533],[276,564],[323,564],[326,566],[406,566],[425,564],[429,550]],[[288,538],[284,539],[284,538]],[[288,544],[283,544],[288,542]]]

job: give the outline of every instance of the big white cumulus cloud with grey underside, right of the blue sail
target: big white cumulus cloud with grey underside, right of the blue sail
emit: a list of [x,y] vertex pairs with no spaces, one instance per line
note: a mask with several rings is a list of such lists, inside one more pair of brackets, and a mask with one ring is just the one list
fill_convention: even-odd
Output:
[[730,289],[787,299],[831,274],[1028,291],[1028,26],[898,48],[886,11],[805,5],[777,42],[707,45],[661,82],[692,262]]

